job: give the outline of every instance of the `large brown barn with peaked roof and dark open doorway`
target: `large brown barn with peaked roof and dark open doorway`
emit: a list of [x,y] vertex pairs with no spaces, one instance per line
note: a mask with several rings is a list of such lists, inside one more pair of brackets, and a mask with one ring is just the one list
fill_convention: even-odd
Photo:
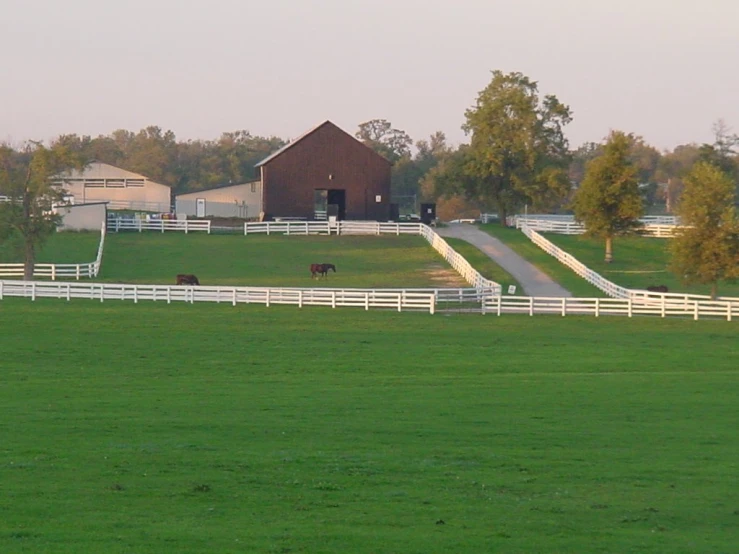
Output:
[[256,167],[264,219],[388,219],[390,162],[330,121]]

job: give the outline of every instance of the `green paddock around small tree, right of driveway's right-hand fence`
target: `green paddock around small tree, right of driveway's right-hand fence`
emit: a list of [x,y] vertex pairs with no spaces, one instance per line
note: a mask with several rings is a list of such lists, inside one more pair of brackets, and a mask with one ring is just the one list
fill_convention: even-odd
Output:
[[[613,241],[613,262],[607,264],[603,261],[605,246],[602,240],[554,233],[544,236],[609,281],[623,287],[644,289],[650,285],[667,285],[671,292],[711,293],[710,285],[684,285],[669,271],[670,239],[616,238]],[[719,295],[739,297],[739,283],[719,284]]]

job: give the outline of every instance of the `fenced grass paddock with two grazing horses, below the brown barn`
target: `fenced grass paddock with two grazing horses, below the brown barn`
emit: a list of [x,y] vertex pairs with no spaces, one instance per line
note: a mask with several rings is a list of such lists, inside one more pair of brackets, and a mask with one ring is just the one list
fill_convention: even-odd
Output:
[[[336,272],[311,279],[310,265]],[[111,233],[100,279],[171,283],[194,273],[203,285],[272,287],[467,287],[421,237]]]

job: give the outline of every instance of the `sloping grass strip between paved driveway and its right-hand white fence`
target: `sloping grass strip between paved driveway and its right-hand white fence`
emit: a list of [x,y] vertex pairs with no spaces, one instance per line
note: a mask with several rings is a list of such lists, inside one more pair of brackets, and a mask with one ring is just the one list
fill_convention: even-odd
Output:
[[480,229],[500,239],[519,256],[534,264],[575,296],[586,298],[602,298],[606,296],[599,288],[583,280],[570,268],[536,246],[518,229],[503,227],[499,223],[480,225]]

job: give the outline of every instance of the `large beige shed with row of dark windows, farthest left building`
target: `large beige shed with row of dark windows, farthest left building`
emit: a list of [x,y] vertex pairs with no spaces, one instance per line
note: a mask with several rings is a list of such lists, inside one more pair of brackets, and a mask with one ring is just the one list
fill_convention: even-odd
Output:
[[82,171],[71,170],[54,179],[74,204],[108,202],[113,210],[169,212],[171,189],[143,175],[103,162],[92,162]]

